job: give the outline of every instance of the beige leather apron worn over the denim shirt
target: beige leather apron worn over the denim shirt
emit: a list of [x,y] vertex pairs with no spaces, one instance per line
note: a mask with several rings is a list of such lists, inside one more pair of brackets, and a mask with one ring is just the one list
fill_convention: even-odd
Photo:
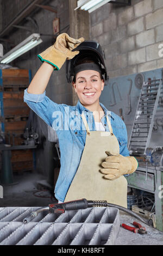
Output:
[[86,141],[76,175],[68,189],[64,202],[86,198],[106,200],[108,203],[127,208],[127,180],[120,176],[115,180],[104,179],[99,169],[107,157],[105,151],[120,154],[116,136],[112,133],[109,118],[106,120],[110,132],[90,131],[84,113],[82,119],[86,127]]

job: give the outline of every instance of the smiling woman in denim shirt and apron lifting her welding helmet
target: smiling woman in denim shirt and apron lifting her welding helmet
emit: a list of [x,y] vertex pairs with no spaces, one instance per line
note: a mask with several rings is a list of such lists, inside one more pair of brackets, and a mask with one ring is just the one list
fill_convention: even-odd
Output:
[[[61,168],[55,197],[59,202],[86,198],[127,207],[124,175],[136,170],[137,161],[129,156],[122,119],[99,103],[103,75],[107,77],[101,47],[63,33],[39,58],[43,64],[24,91],[24,101],[58,135]],[[76,106],[57,104],[45,95],[53,70],[65,61],[67,81],[73,77],[79,97]]]

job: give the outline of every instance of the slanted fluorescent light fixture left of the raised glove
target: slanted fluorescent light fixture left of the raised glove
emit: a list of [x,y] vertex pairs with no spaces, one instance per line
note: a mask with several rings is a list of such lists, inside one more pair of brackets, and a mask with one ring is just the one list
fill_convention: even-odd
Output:
[[40,38],[40,34],[32,34],[28,36],[27,39],[22,41],[16,47],[14,47],[11,51],[6,53],[1,59],[0,63],[8,64],[12,60],[16,59],[17,57],[21,56],[23,53],[28,52],[35,46],[41,44],[42,39]]

